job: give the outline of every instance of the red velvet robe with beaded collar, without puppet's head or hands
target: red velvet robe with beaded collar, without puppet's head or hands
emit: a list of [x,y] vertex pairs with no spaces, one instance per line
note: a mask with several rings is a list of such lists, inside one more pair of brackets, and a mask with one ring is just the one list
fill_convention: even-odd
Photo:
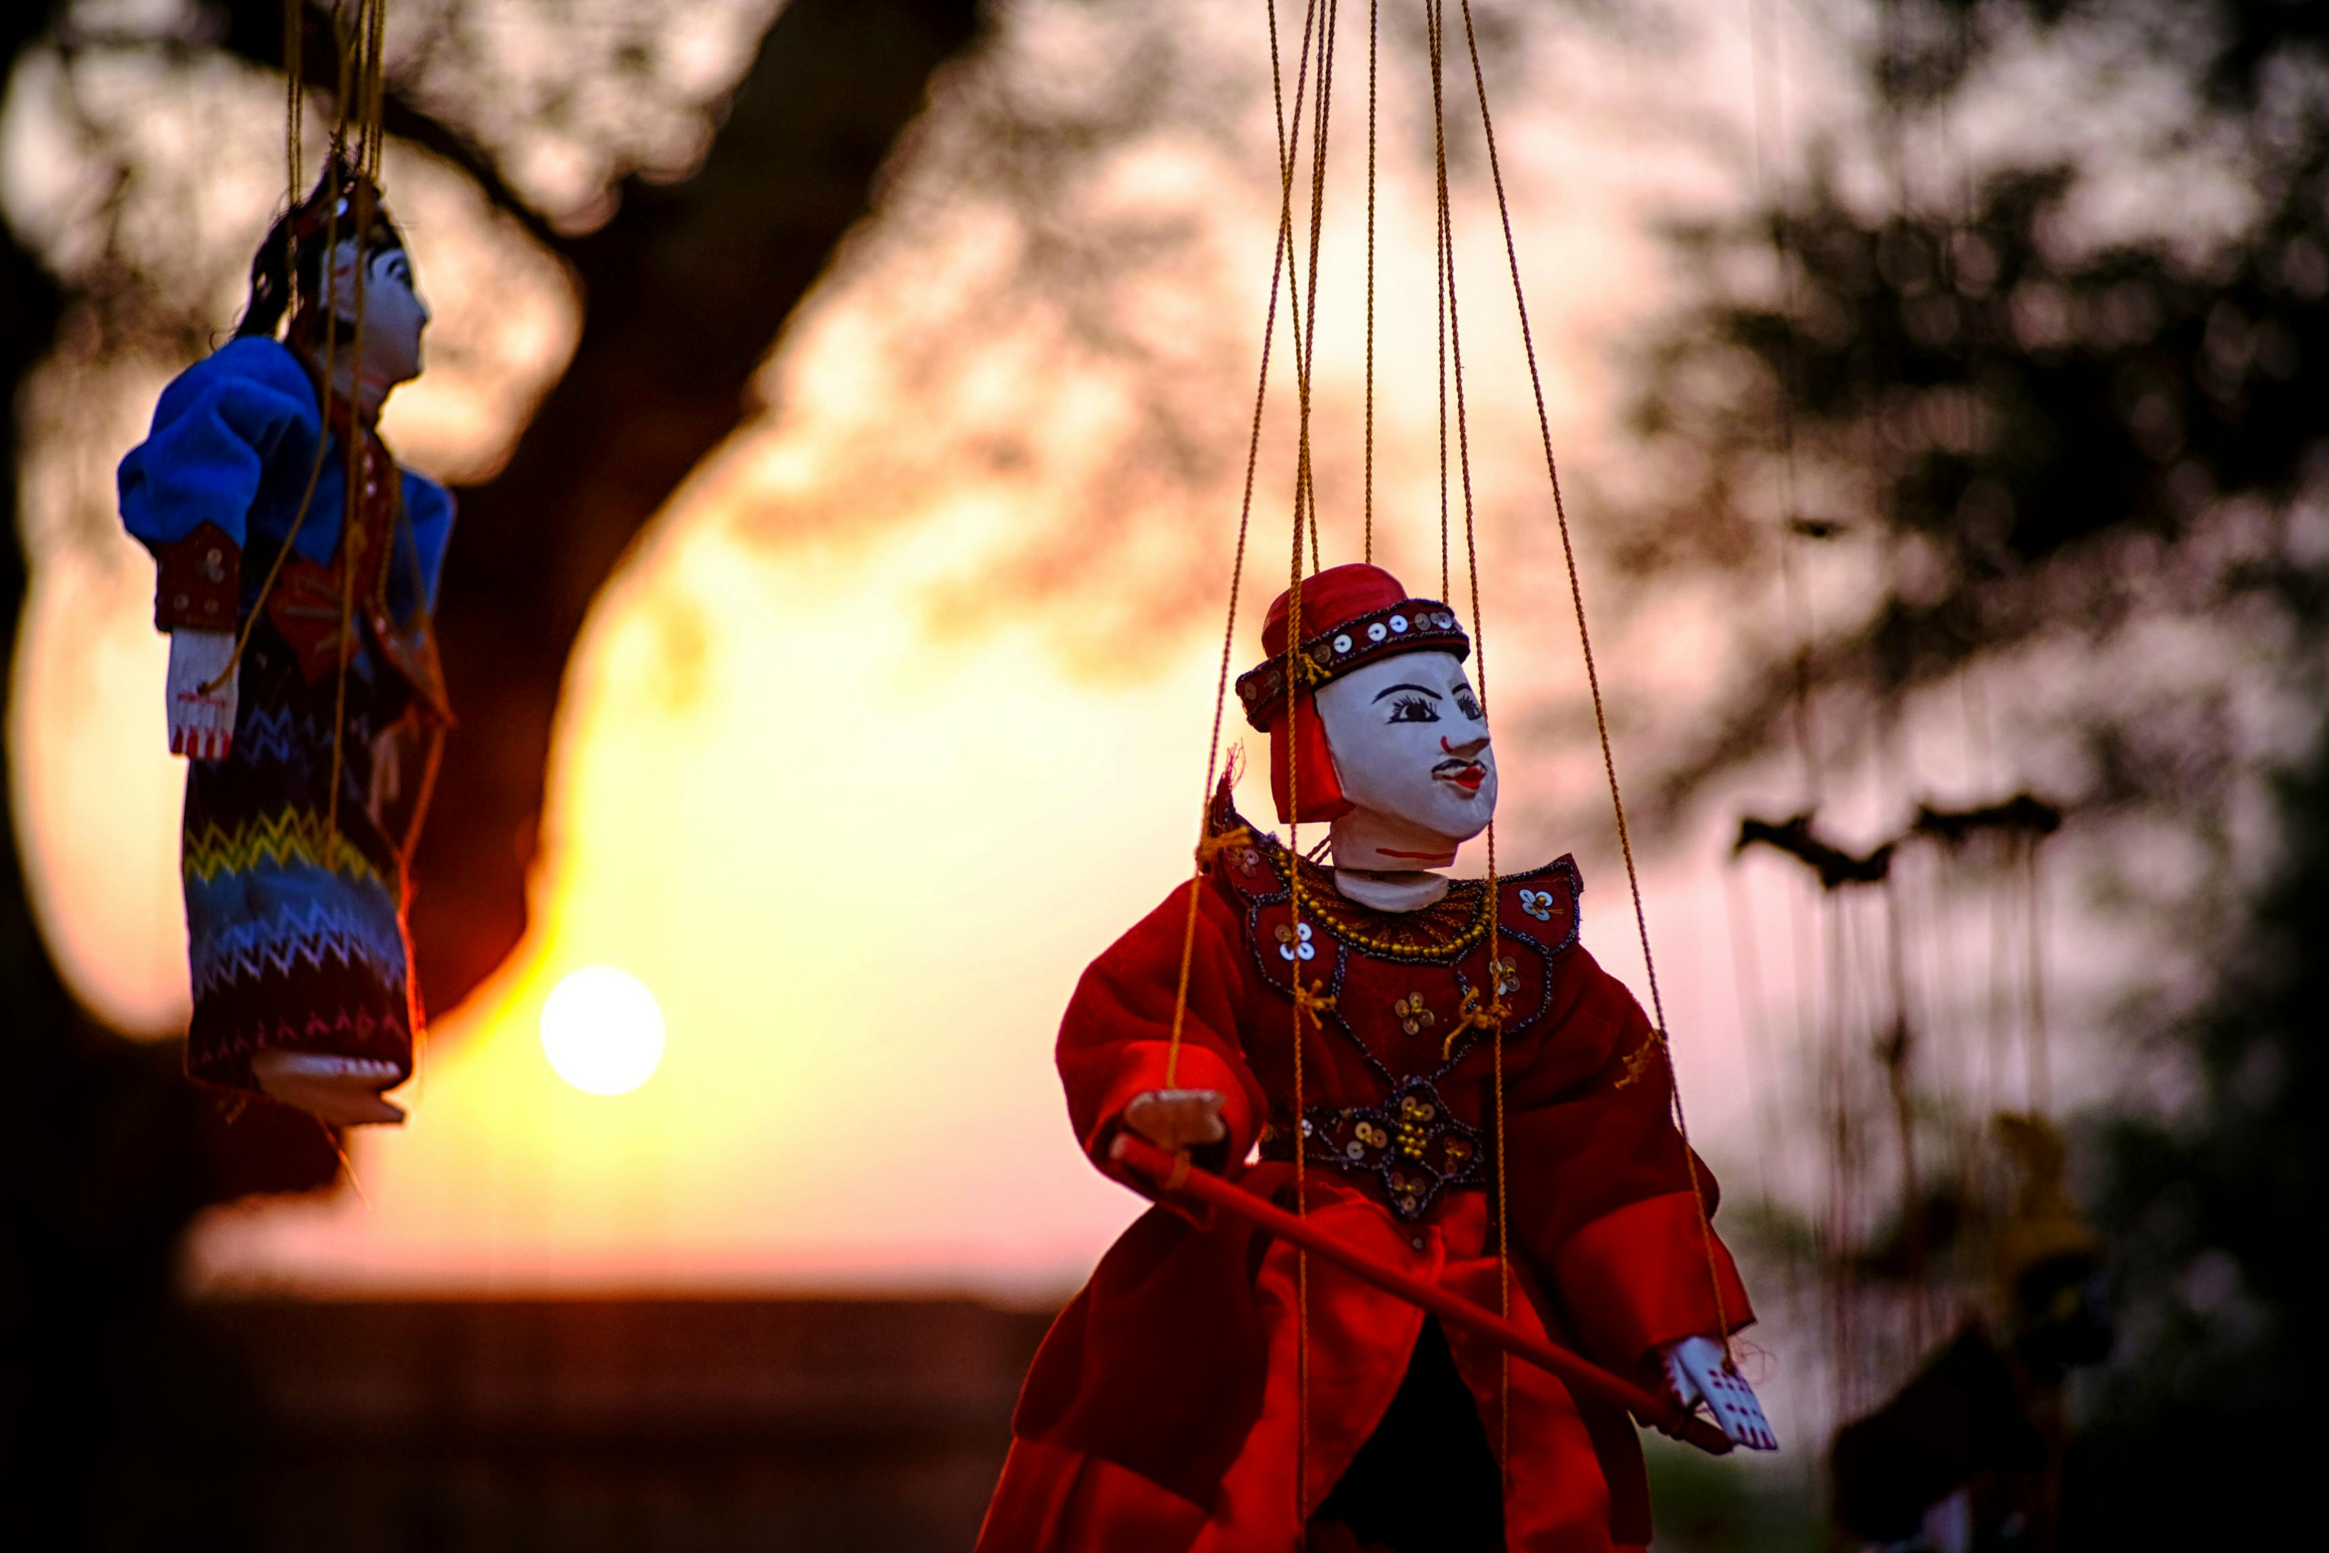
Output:
[[[1220,806],[1216,831],[1234,824]],[[1493,955],[1481,882],[1456,882],[1421,913],[1376,913],[1339,896],[1328,871],[1297,866],[1290,875],[1283,848],[1253,838],[1195,885],[1171,1076],[1188,887],[1085,971],[1057,1059],[1095,1162],[1134,1094],[1220,1090],[1230,1141],[1216,1164],[1293,1206],[1300,1034],[1311,1220],[1498,1309],[1495,1038],[1465,1017],[1491,1004],[1495,964],[1512,1318],[1637,1376],[1663,1343],[1747,1325],[1730,1255],[1691,1199],[1691,1164],[1707,1213],[1714,1178],[1684,1157],[1663,1048],[1577,945],[1577,866],[1500,880]],[[1255,1143],[1262,1160],[1237,1164]],[[1225,1215],[1151,1208],[1043,1339],[981,1553],[1290,1553],[1390,1406],[1423,1327],[1418,1309],[1316,1260],[1307,1278],[1304,1406],[1293,1250]],[[1446,1336],[1491,1448],[1509,1458],[1507,1546],[1644,1546],[1649,1497],[1623,1411],[1530,1364],[1507,1371],[1470,1334]]]

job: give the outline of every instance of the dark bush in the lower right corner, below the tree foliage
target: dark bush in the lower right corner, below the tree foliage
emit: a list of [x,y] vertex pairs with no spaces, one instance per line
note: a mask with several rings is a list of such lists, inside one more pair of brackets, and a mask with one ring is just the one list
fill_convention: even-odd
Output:
[[[2182,1027],[2199,1078],[2175,1118],[2103,1136],[2129,1364],[2080,1451],[2075,1546],[2196,1548],[2287,1532],[2317,1413],[2308,1376],[2329,1178],[2329,745],[2280,782],[2285,859]],[[2126,1485],[2182,1485],[2126,1492]]]

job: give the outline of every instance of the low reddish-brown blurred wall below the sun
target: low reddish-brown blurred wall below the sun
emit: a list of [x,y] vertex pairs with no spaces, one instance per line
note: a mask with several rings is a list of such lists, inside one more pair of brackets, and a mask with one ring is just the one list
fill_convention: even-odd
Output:
[[252,1553],[969,1548],[1048,1313],[967,1299],[212,1302]]

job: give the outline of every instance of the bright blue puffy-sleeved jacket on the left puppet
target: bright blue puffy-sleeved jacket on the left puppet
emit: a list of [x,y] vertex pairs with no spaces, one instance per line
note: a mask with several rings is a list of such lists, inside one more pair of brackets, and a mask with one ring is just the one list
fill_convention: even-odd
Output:
[[[177,375],[154,405],[154,431],[121,461],[121,522],[156,554],[203,524],[217,524],[240,547],[275,552],[291,533],[314,440],[324,433],[314,382],[298,356],[277,340],[233,340]],[[328,566],[340,543],[347,459],[331,438],[314,498],[293,547]],[[396,536],[389,561],[389,608],[408,619],[412,608],[436,608],[445,540],[452,533],[452,494],[405,470],[405,519],[412,540]],[[415,559],[419,575],[415,575]],[[263,566],[242,568],[240,615],[249,617],[266,580]]]

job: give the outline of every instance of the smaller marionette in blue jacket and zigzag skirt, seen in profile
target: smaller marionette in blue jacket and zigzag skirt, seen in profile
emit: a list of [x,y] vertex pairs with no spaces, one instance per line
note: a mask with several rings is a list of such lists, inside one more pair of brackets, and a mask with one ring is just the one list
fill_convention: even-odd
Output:
[[[429,310],[373,179],[333,161],[252,261],[235,338],[121,461],[186,757],[186,1071],[398,1122],[419,997],[405,854],[449,724],[429,631],[452,498],[380,442]],[[282,338],[277,338],[282,326]],[[391,836],[405,745],[429,747]]]

